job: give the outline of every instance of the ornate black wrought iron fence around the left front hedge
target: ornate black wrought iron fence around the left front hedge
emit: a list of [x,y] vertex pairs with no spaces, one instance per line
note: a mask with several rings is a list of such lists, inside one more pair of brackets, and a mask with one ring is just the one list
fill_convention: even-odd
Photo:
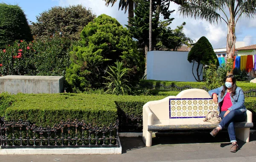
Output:
[[118,120],[108,127],[68,120],[45,128],[0,120],[1,148],[119,147]]

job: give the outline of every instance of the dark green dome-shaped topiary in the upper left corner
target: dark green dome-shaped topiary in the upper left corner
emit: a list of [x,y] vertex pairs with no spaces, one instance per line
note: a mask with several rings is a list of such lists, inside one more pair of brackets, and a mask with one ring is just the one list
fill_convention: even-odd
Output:
[[0,49],[15,40],[33,40],[26,16],[19,6],[0,3]]

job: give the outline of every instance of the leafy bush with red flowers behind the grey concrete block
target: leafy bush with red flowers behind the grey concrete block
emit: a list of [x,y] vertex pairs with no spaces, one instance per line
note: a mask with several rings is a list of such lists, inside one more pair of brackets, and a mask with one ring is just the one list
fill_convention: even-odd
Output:
[[17,40],[0,50],[0,76],[65,76],[66,68],[70,66],[69,52],[73,43],[76,44],[58,37],[35,42]]

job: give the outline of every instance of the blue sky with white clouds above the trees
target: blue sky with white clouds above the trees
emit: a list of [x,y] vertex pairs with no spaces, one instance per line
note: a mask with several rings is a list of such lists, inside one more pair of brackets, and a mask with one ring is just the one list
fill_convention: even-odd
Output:
[[[40,13],[48,11],[54,6],[69,6],[81,4],[87,9],[90,8],[94,14],[107,14],[116,18],[122,25],[127,24],[128,12],[118,10],[119,0],[116,1],[113,7],[105,6],[104,0],[0,0],[0,3],[7,3],[10,5],[18,5],[26,14],[28,22],[36,22],[36,16]],[[212,44],[214,49],[225,48],[227,42],[227,24],[222,21],[219,24],[209,24],[205,20],[198,20],[192,18],[184,18],[177,13],[179,5],[171,3],[169,9],[175,10],[171,14],[175,20],[170,25],[172,29],[180,26],[186,22],[183,32],[186,37],[197,41],[202,36],[205,36]],[[163,20],[163,17],[160,17]],[[245,46],[256,44],[256,19],[249,19],[247,17],[240,17],[236,24],[236,41],[244,41]]]

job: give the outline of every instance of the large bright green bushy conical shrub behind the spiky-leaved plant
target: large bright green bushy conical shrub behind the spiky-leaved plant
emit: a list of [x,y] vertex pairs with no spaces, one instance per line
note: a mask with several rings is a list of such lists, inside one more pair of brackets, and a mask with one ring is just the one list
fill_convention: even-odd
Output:
[[67,82],[73,90],[103,87],[108,66],[116,60],[127,68],[125,79],[135,85],[143,76],[145,61],[131,34],[116,19],[102,14],[81,32],[81,46],[71,52],[72,64],[67,69]]

